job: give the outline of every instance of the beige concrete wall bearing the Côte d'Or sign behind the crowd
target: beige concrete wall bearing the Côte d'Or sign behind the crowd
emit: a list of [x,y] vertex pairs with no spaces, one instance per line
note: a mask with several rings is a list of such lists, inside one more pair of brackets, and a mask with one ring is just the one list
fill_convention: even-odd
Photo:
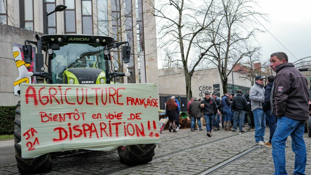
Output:
[[[183,69],[159,69],[159,93],[186,95],[186,81]],[[251,82],[245,80],[243,74],[233,73],[234,85],[251,87]],[[228,84],[232,84],[232,76],[228,77]],[[237,89],[236,89],[237,90]],[[223,95],[222,84],[218,69],[205,69],[195,71],[191,79],[191,91],[193,97],[204,98],[205,92],[219,93]]]

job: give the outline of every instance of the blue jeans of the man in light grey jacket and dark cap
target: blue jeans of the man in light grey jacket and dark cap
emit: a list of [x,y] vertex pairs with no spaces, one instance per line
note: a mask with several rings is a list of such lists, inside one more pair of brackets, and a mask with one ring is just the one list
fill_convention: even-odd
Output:
[[263,136],[265,135],[266,129],[266,115],[262,109],[255,109],[253,114],[255,121],[255,141],[258,143],[264,141]]

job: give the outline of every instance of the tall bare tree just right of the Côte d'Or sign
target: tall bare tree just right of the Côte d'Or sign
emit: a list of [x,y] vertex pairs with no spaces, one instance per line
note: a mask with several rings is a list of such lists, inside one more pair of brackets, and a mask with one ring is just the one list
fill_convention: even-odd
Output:
[[[252,0],[215,0],[212,12],[215,22],[206,31],[213,48],[206,53],[206,59],[218,67],[223,92],[227,92],[227,81],[234,65],[254,50],[244,51],[247,40],[253,39],[259,29],[253,16],[264,14],[250,11],[257,3]],[[230,65],[233,65],[230,68]]]

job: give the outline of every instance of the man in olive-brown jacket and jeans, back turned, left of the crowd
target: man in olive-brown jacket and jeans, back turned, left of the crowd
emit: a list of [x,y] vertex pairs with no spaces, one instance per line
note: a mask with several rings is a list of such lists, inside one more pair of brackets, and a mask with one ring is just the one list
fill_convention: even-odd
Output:
[[201,117],[203,109],[201,107],[201,103],[197,100],[197,97],[193,97],[193,101],[189,104],[188,111],[191,117],[191,131],[194,131],[194,125],[196,120],[197,125],[199,126],[199,131],[202,131]]

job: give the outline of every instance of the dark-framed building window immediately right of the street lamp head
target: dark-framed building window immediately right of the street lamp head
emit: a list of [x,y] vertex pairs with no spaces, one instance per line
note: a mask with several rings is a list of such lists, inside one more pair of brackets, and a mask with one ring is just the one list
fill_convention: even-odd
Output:
[[76,2],[75,0],[64,0],[64,5],[67,8],[65,14],[65,34],[76,33]]

